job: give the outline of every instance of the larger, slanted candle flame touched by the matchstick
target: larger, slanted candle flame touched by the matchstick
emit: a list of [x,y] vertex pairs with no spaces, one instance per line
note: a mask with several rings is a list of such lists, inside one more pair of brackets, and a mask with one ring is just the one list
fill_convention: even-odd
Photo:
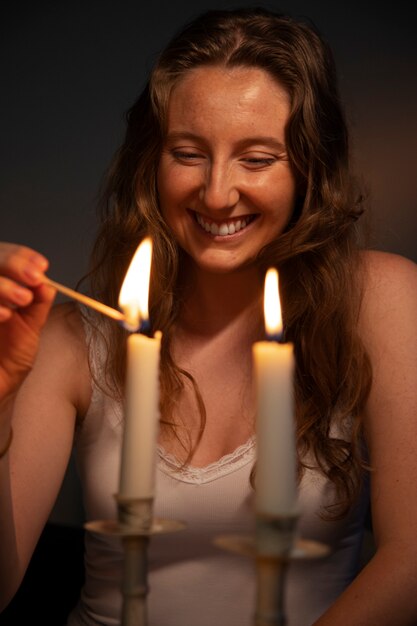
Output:
[[147,321],[149,281],[152,264],[152,240],[146,237],[132,257],[120,289],[119,306],[123,310],[130,330],[136,330],[141,321]]

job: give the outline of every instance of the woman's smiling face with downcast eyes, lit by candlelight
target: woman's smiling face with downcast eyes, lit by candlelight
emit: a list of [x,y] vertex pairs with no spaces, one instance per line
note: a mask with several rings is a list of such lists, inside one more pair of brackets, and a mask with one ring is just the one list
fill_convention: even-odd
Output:
[[287,92],[257,68],[196,68],[172,90],[159,200],[196,266],[247,267],[284,230],[296,198],[289,111]]

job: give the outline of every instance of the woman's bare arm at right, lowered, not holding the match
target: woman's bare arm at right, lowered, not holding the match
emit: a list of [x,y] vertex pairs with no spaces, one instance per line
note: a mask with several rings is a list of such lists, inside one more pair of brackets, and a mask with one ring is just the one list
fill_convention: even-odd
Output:
[[368,253],[360,330],[373,367],[364,415],[377,550],[316,626],[417,624],[417,266]]

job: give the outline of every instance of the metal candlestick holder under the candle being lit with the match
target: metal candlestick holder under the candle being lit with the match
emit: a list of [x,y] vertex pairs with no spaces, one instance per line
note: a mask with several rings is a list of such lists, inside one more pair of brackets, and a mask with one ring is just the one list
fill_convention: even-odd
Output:
[[185,524],[154,518],[153,498],[126,498],[116,494],[115,499],[117,520],[87,522],[84,527],[121,538],[124,551],[121,625],[147,626],[149,539],[152,535],[182,530]]

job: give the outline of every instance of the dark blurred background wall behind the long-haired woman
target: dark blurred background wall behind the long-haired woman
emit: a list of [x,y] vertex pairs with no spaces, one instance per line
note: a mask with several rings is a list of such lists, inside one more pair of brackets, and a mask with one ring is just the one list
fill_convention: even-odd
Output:
[[[86,269],[95,200],[123,115],[167,39],[208,8],[251,2],[4,3],[0,19],[0,239]],[[307,16],[333,47],[354,157],[371,192],[374,247],[417,261],[417,38],[409,3],[259,3]],[[58,300],[60,298],[58,297]],[[71,467],[53,520],[82,520]]]

